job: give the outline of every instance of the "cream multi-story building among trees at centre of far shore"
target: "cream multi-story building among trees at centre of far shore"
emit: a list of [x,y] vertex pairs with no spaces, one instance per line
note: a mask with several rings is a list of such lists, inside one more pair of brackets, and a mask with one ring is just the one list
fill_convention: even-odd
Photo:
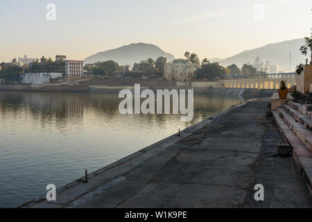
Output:
[[164,67],[164,77],[168,80],[191,81],[199,68],[199,63],[192,63],[189,60],[187,62],[167,62]]

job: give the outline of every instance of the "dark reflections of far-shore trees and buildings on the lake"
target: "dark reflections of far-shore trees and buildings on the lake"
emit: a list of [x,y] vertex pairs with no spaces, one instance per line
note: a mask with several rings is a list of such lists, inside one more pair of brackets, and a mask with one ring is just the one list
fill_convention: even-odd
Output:
[[[30,112],[33,119],[40,120],[42,126],[55,121],[58,126],[66,126],[67,122],[81,121],[84,110],[101,117],[112,119],[119,116],[119,102],[121,99],[115,94],[60,94],[60,93],[16,93],[0,92],[0,114],[19,115]],[[194,96],[194,119],[191,123],[208,117],[207,114],[218,113],[224,108],[236,105],[243,101],[242,97],[208,96],[198,94]],[[150,120],[162,122],[170,114],[150,114]],[[139,115],[141,118],[142,115]],[[172,117],[169,117],[172,118]]]

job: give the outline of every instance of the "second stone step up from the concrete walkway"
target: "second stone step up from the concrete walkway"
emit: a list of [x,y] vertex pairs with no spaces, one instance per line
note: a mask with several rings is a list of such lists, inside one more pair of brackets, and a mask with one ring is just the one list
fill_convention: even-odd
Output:
[[284,119],[285,123],[293,130],[293,133],[301,140],[306,148],[312,152],[312,133],[310,130],[304,127],[304,125],[288,114],[283,108],[278,108],[277,112],[279,116]]

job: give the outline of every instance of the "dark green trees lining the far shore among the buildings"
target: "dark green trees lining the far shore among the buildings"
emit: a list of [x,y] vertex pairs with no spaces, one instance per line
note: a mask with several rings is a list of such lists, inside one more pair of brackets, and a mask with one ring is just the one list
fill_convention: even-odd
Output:
[[[247,64],[243,65],[240,69],[234,64],[225,68],[219,65],[218,62],[209,62],[207,58],[200,61],[196,53],[189,53],[188,51],[184,53],[184,57],[185,59],[177,59],[173,62],[187,62],[189,60],[192,63],[199,63],[201,67],[196,71],[196,78],[200,79],[216,80],[226,75],[265,73],[264,71],[259,72],[256,68],[252,67],[252,65]],[[16,81],[19,79],[19,75],[23,73],[60,72],[64,74],[64,65],[65,62],[63,60],[53,61],[51,58],[42,56],[40,59],[35,59],[29,66],[19,67],[16,65],[16,59],[13,59],[10,65],[6,63],[1,64],[0,78]],[[160,56],[156,60],[148,58],[147,60],[141,60],[141,62],[135,62],[132,71],[139,72],[143,76],[163,77],[165,65],[166,58],[163,56]],[[84,69],[93,71],[95,76],[105,76],[107,74],[113,74],[116,71],[130,71],[128,65],[119,66],[117,62],[112,60],[95,62],[93,66],[85,66]]]

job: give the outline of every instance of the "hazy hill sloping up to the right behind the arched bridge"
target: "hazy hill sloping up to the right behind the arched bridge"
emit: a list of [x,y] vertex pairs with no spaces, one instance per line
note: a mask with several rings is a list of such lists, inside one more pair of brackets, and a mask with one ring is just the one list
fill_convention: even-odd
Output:
[[227,67],[228,65],[236,64],[242,67],[243,64],[250,62],[251,64],[257,58],[260,57],[261,61],[270,64],[279,65],[279,70],[286,70],[290,68],[290,51],[291,51],[291,67],[292,71],[295,71],[295,67],[300,63],[305,63],[308,56],[303,56],[300,53],[300,46],[304,45],[304,39],[289,40],[285,42],[279,42],[275,44],[268,44],[258,49],[246,50],[236,56],[232,56],[222,60],[220,65]]

